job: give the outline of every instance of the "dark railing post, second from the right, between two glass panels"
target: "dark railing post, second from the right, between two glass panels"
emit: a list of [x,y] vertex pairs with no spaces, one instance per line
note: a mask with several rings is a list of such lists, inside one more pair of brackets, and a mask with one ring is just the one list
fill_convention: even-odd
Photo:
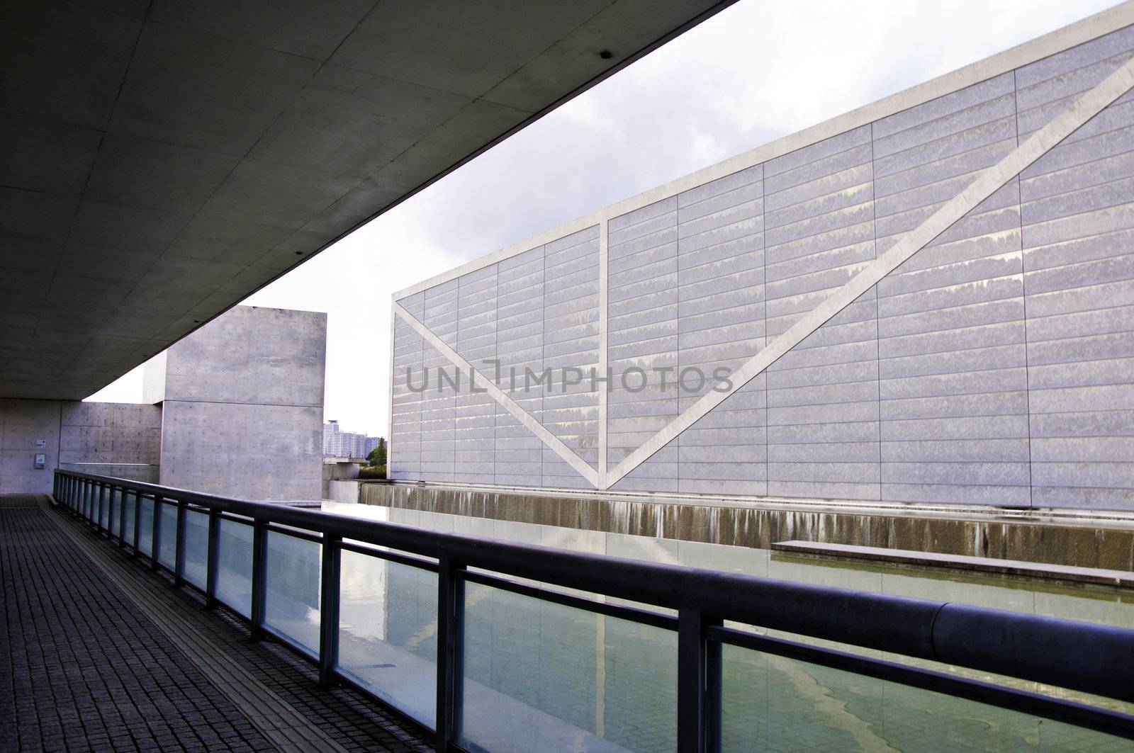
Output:
[[464,650],[465,582],[464,565],[448,557],[438,558],[437,585],[437,741],[435,750],[446,753],[460,725],[460,669]]

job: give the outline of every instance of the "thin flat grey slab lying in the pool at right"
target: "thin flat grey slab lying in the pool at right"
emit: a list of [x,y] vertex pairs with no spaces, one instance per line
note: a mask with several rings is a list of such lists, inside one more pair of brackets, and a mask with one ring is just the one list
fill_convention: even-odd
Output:
[[850,544],[830,544],[815,541],[777,541],[772,544],[772,551],[805,555],[810,557],[832,557],[840,559],[865,560],[871,562],[897,562],[900,565],[917,565],[920,567],[941,567],[970,573],[1022,575],[1025,577],[1044,578],[1049,581],[1090,583],[1092,585],[1105,585],[1116,589],[1134,587],[1134,573],[1127,570],[1048,565],[1044,562],[1027,562],[1018,559],[939,555],[937,552],[912,551],[908,549],[855,547]]

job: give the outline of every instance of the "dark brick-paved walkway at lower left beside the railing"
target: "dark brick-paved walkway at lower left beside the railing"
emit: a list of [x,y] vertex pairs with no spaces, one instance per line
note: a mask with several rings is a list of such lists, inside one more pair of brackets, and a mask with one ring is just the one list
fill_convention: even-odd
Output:
[[428,751],[43,498],[0,497],[0,751]]

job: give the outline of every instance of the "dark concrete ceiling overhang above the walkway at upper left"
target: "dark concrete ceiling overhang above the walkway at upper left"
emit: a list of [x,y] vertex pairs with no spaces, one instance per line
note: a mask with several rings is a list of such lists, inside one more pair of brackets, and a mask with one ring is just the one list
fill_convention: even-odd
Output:
[[91,395],[729,1],[2,0],[0,397]]

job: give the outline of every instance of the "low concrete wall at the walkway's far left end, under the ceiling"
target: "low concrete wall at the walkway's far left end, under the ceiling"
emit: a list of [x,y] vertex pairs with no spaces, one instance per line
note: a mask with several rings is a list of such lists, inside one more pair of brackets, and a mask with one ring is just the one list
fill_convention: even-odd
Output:
[[[0,398],[0,493],[50,493],[60,465],[105,464],[79,469],[156,481],[147,474],[159,460],[160,426],[154,405]],[[46,462],[35,469],[40,452]]]

